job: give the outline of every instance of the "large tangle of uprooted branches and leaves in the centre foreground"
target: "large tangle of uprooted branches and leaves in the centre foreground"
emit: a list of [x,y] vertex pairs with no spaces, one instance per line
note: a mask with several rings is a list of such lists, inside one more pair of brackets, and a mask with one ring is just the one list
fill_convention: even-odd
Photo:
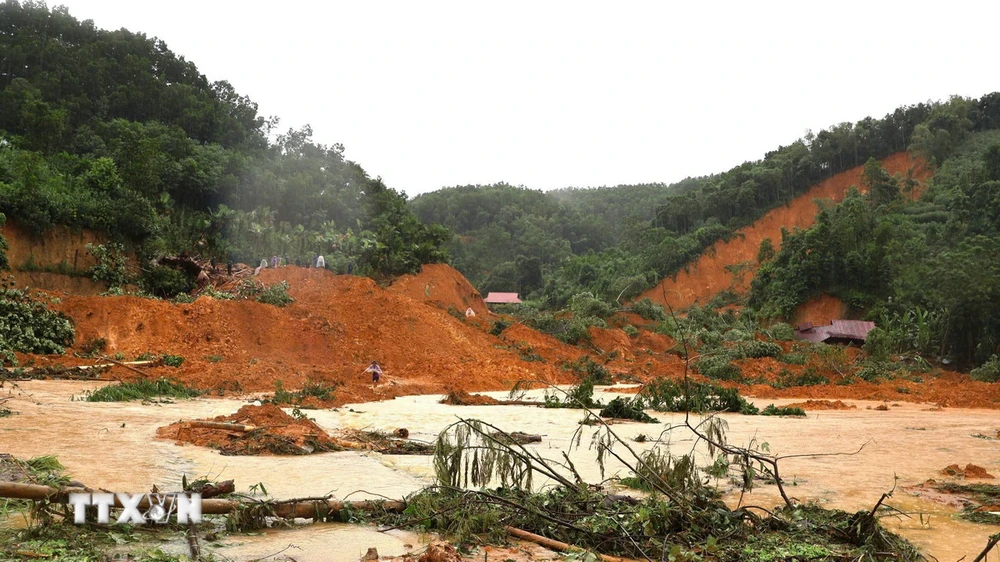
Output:
[[[725,424],[719,418],[707,418],[697,427],[713,457],[737,452],[724,445]],[[770,561],[785,559],[775,557],[781,553],[920,559],[912,545],[883,529],[867,511],[848,514],[790,503],[764,514],[732,510],[699,476],[692,457],[673,456],[658,447],[640,455],[606,425],[591,442],[602,472],[613,456],[631,471],[624,483],[648,490],[647,497],[609,494],[588,485],[565,451],[563,460],[548,459],[542,450],[496,438],[497,431],[477,420],[446,428],[434,455],[437,485],[406,498],[402,514],[371,517],[384,525],[441,533],[460,545],[505,543],[510,529],[523,530],[591,553],[587,556],[651,559],[662,553],[693,561],[710,554],[719,560]],[[577,447],[580,440],[576,438]],[[553,483],[536,490],[536,475]]]

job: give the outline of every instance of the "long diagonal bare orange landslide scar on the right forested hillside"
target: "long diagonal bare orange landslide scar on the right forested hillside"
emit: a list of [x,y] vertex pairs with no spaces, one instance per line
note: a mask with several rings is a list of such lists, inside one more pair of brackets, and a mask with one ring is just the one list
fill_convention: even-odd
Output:
[[[913,177],[923,182],[930,177],[924,162],[912,159],[909,153],[900,152],[882,160],[882,166],[890,173],[907,174],[913,170]],[[843,200],[852,185],[861,185],[863,166],[841,172],[813,186],[805,194],[793,199],[788,205],[778,207],[764,215],[752,225],[741,228],[730,241],[716,242],[693,264],[681,270],[673,278],[667,278],[656,287],[646,291],[639,298],[650,298],[660,304],[670,304],[674,308],[687,308],[695,302],[706,303],[714,295],[733,288],[743,292],[750,286],[753,272],[743,276],[742,283],[734,283],[733,275],[726,271],[727,265],[740,263],[755,264],[757,250],[764,238],[770,238],[778,247],[781,244],[782,227],[788,230],[808,228],[816,221],[819,209],[814,199]],[[666,295],[666,300],[664,299]]]

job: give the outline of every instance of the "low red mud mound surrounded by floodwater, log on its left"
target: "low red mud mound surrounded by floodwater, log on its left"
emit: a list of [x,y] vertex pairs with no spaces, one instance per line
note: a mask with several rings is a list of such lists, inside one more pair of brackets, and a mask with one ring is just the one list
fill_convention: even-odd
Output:
[[243,406],[235,414],[216,416],[212,422],[252,426],[249,431],[194,427],[175,422],[156,430],[160,439],[217,448],[223,455],[303,455],[339,450],[318,425],[294,418],[273,404]]

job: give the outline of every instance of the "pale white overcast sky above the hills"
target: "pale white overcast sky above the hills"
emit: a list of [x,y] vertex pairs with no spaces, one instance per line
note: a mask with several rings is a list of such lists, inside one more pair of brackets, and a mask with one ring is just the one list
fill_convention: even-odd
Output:
[[1000,90],[1000,2],[64,0],[416,195],[674,182]]

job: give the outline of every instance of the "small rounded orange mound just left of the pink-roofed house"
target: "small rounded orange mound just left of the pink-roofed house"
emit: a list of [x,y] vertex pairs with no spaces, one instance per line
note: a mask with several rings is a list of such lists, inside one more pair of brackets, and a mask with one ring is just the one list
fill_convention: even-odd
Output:
[[396,279],[389,290],[444,310],[465,314],[471,308],[477,316],[490,315],[479,291],[458,270],[446,264],[427,264],[416,275]]

